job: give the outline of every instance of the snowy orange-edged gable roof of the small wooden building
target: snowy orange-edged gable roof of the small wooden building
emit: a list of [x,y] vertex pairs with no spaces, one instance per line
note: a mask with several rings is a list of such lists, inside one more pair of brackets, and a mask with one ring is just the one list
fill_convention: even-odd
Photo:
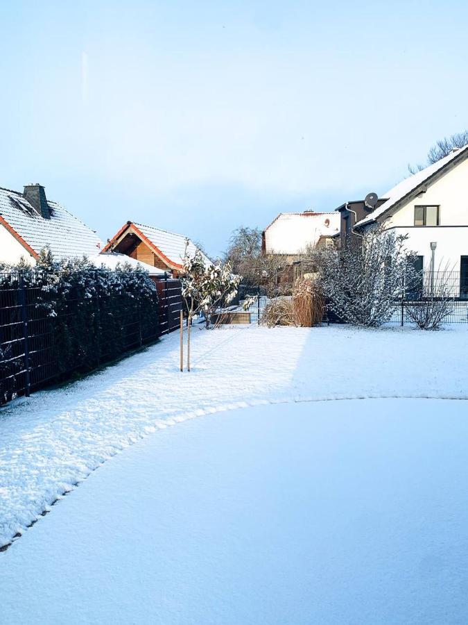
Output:
[[146,226],[138,222],[127,222],[118,233],[105,245],[103,251],[109,250],[112,245],[119,242],[128,231],[135,232],[148,247],[172,269],[182,269],[186,245],[189,256],[195,256],[200,251],[207,265],[211,260],[187,237],[162,228]]

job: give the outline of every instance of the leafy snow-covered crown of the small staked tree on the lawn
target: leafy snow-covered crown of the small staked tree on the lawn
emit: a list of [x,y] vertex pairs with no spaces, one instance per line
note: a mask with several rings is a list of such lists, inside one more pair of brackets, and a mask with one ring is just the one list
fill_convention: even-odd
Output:
[[232,273],[229,261],[205,265],[199,251],[193,257],[185,256],[181,279],[189,318],[203,313],[207,328],[211,317],[234,299],[241,282],[241,276]]

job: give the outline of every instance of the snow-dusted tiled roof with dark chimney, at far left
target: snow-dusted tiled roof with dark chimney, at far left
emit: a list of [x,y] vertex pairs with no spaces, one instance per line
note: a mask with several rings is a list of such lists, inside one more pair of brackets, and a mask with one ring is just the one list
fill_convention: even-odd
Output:
[[0,224],[32,256],[49,246],[56,260],[94,256],[101,240],[91,228],[57,202],[47,201],[50,219],[44,219],[17,191],[0,188]]

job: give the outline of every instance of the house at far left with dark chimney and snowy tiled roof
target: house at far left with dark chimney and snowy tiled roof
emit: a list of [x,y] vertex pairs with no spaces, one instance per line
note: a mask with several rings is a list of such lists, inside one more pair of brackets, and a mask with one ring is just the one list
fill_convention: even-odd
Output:
[[101,240],[61,204],[46,199],[42,185],[26,185],[23,193],[0,188],[0,262],[13,265],[24,258],[35,265],[46,246],[62,260],[95,256]]

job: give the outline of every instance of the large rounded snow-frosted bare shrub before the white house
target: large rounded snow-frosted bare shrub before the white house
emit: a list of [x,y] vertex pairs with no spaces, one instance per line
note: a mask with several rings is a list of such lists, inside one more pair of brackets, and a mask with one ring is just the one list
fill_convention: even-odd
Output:
[[362,239],[352,236],[345,247],[322,253],[320,284],[333,313],[357,326],[390,319],[413,272],[406,238],[378,226]]

